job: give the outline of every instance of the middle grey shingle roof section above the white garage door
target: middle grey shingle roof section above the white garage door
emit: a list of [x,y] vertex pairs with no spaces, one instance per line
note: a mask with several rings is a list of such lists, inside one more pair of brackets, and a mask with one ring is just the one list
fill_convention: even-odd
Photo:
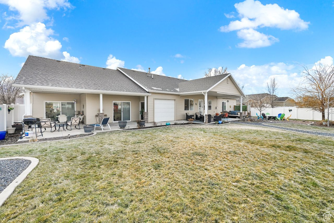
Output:
[[125,68],[117,68],[123,71],[127,76],[138,82],[141,86],[146,88],[148,91],[161,91],[179,93],[179,83],[187,80],[167,77],[163,75],[153,74],[153,78],[147,76],[146,72],[134,71]]

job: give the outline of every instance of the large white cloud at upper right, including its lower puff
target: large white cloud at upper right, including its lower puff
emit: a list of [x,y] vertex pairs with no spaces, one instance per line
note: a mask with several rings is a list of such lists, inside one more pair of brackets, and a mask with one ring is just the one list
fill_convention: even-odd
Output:
[[[241,47],[264,47],[278,41],[274,36],[260,32],[255,33],[257,32],[255,29],[273,27],[281,30],[305,30],[310,24],[310,22],[301,19],[299,13],[295,10],[284,9],[278,4],[263,5],[260,1],[245,0],[234,4],[234,7],[241,19],[231,21],[228,25],[221,26],[219,30],[221,32],[240,30],[237,33],[239,38],[251,35],[252,40],[241,43]],[[225,14],[228,18],[231,18],[231,15],[233,14]],[[247,43],[249,43],[249,46],[246,45]]]

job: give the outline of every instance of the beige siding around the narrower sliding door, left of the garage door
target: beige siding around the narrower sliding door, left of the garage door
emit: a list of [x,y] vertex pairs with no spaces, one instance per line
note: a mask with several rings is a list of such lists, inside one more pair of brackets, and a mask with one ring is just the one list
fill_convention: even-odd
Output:
[[[144,98],[143,98],[144,99]],[[129,101],[131,121],[139,119],[139,96],[130,95],[103,95],[103,113],[113,122],[113,101]],[[87,94],[87,123],[96,123],[95,115],[100,112],[100,95]]]

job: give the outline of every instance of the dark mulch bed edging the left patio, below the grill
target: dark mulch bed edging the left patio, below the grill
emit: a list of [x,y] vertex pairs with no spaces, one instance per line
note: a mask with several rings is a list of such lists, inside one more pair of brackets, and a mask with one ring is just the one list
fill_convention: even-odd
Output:
[[[79,138],[87,135],[91,135],[92,133],[85,133],[85,134],[77,134],[77,135],[70,135],[70,138]],[[22,140],[17,141],[19,139],[19,136],[21,135],[21,130],[16,130],[13,134],[6,134],[6,137],[4,140],[0,140],[0,145],[9,145],[9,144],[21,144],[21,143],[27,143],[28,140]],[[43,138],[38,139],[38,142],[43,141],[54,141],[54,140],[60,140],[60,139],[68,139],[68,136],[60,136],[60,137],[52,137],[52,138]]]

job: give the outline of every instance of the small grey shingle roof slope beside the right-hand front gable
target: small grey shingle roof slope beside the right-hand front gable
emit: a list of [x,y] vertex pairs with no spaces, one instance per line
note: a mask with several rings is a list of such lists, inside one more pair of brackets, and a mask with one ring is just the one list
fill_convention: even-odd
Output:
[[185,92],[195,92],[195,91],[207,91],[212,86],[217,84],[219,81],[227,77],[229,74],[222,74],[212,77],[200,78],[195,80],[190,80],[186,82],[182,82],[179,84],[180,93]]

